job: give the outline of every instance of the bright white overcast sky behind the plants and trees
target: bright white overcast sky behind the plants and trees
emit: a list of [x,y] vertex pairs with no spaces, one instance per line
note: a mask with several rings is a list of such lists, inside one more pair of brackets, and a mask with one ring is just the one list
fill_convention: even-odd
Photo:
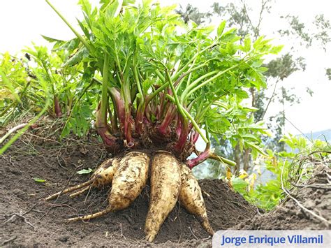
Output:
[[[77,0],[51,0],[54,6],[72,24],[76,23],[75,18],[82,17]],[[183,7],[187,3],[197,6],[200,11],[206,11],[216,0],[161,0],[162,5],[180,3]],[[91,2],[97,3],[97,0]],[[221,1],[227,3],[229,1]],[[252,8],[251,16],[256,22],[260,0],[249,0],[249,7]],[[290,50],[289,41],[279,38],[272,33],[284,24],[279,20],[279,15],[298,15],[301,20],[309,26],[314,16],[324,13],[325,17],[331,20],[331,3],[328,0],[299,1],[299,0],[274,0],[272,15],[267,15],[263,22],[263,34],[273,38],[275,44],[284,44],[284,52]],[[62,22],[54,11],[44,0],[10,0],[0,1],[0,53],[10,52],[15,54],[25,46],[31,45],[34,41],[37,45],[46,45],[41,34],[52,38],[69,39],[73,38],[70,29]],[[214,18],[212,24],[217,26],[221,20]],[[300,54],[307,59],[307,70],[296,72],[281,82],[287,88],[293,88],[293,92],[300,96],[301,103],[293,106],[286,105],[286,117],[295,126],[286,122],[286,132],[297,134],[299,131],[309,133],[331,129],[331,81],[325,77],[325,68],[331,68],[331,45],[328,52],[324,52],[315,46],[309,49],[300,50]],[[309,87],[314,95],[311,97],[306,93]],[[272,104],[268,115],[273,115],[280,109],[280,105]]]

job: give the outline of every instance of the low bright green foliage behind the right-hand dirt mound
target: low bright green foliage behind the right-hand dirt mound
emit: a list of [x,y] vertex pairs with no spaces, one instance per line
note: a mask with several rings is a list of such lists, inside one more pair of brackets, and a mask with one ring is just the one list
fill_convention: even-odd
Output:
[[[324,159],[330,158],[331,147],[323,140],[307,140],[301,136],[288,135],[281,138],[288,147],[288,152],[272,152],[267,150],[267,157],[260,157],[256,161],[250,175],[242,171],[239,177],[233,176],[231,180],[233,189],[239,192],[249,202],[265,210],[272,210],[279,205],[286,196],[282,187],[288,190],[293,189],[290,182],[303,184],[311,177],[314,163],[303,163],[304,159],[321,159],[324,151]],[[326,153],[328,151],[329,153]],[[270,180],[265,183],[257,183],[257,177],[261,170],[269,171]]]

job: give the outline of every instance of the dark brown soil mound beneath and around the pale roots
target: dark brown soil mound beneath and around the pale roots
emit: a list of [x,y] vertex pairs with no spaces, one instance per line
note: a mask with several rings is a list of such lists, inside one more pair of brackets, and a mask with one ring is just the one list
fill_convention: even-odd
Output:
[[[106,159],[103,149],[75,140],[60,144],[39,140],[32,145],[17,142],[0,156],[0,246],[109,247],[147,244],[144,239],[149,187],[127,210],[89,222],[66,223],[68,217],[103,210],[109,189],[91,190],[77,198],[61,196],[41,200],[66,186],[84,182],[89,175],[75,173],[95,168]],[[34,177],[45,182],[35,182]],[[249,205],[221,180],[201,180],[209,221],[214,230],[226,229],[251,219],[256,207]],[[191,214],[177,204],[156,237],[157,246],[198,246],[211,238]]]

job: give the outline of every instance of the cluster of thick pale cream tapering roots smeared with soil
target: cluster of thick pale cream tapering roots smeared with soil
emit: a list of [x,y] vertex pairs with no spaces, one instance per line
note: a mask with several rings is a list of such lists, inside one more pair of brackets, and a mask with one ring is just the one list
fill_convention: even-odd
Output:
[[207,219],[205,202],[196,177],[186,164],[179,163],[170,152],[158,151],[149,156],[145,152],[135,151],[108,159],[96,169],[89,181],[48,196],[45,200],[73,191],[76,192],[70,196],[78,196],[90,187],[101,189],[111,184],[108,207],[105,210],[71,218],[68,221],[94,219],[108,212],[124,210],[131,205],[144,189],[148,178],[151,197],[145,222],[146,240],[152,242],[155,239],[177,200],[182,207],[198,218],[209,235],[214,234]]

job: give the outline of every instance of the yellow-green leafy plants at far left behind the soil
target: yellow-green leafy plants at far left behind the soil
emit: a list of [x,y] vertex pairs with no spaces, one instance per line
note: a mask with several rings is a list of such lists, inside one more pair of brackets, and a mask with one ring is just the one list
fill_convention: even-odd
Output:
[[[99,92],[98,86],[91,83],[91,76],[86,74],[90,68],[77,65],[87,56],[86,49],[83,47],[79,50],[77,39],[64,42],[44,38],[55,42],[53,51],[34,45],[34,48],[24,50],[24,59],[3,54],[0,71],[1,122],[7,124],[24,110],[40,112],[48,97],[44,90],[46,86],[50,97],[59,101],[61,119],[65,123],[62,137],[71,131],[84,136],[91,128]],[[79,59],[75,63],[76,56]],[[43,78],[43,82],[36,75]],[[54,103],[47,112],[50,116],[55,115]]]

